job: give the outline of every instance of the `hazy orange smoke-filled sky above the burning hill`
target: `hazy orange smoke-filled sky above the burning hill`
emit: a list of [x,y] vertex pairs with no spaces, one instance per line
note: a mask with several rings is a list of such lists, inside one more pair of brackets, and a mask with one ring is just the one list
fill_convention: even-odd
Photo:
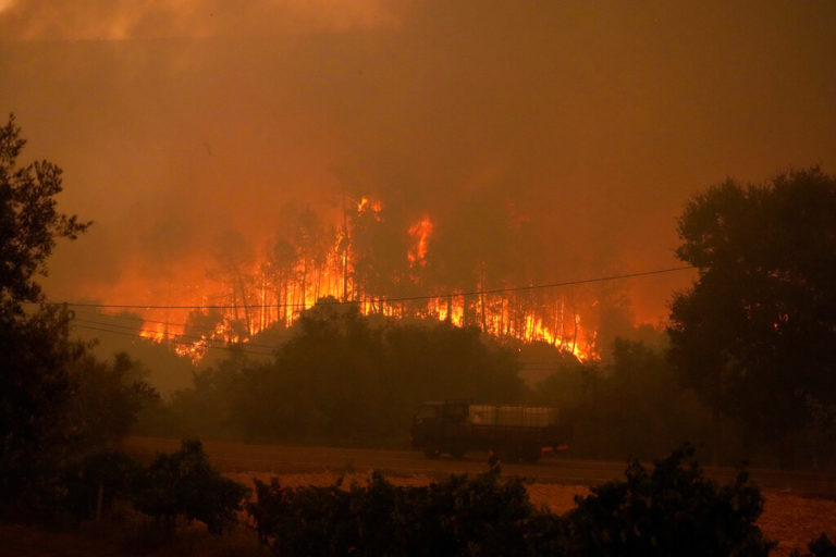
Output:
[[[507,199],[570,280],[675,265],[684,202],[726,176],[836,173],[834,24],[831,1],[0,0],[0,111],[96,221],[56,298],[134,301],[136,269],[343,189],[416,218]],[[681,283],[636,283],[640,313]]]

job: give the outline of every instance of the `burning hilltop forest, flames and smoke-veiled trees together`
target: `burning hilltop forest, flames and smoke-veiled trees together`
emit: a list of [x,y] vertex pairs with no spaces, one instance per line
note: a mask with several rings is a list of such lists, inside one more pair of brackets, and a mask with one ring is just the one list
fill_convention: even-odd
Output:
[[[365,196],[346,201],[341,213],[329,223],[310,208],[285,208],[283,232],[260,250],[241,235],[222,236],[204,262],[202,281],[171,280],[167,304],[131,308],[144,319],[139,335],[199,360],[209,346],[290,327],[320,300],[356,305],[365,315],[478,326],[581,360],[597,357],[595,330],[581,322],[581,308],[595,306],[589,293],[520,288],[516,272],[496,274],[492,261],[479,258],[495,259],[490,248],[469,260],[466,252],[443,260],[435,251],[455,248],[444,246],[450,240],[429,214],[404,223],[383,201]],[[456,280],[445,277],[451,271]],[[199,268],[190,273],[199,275]]]

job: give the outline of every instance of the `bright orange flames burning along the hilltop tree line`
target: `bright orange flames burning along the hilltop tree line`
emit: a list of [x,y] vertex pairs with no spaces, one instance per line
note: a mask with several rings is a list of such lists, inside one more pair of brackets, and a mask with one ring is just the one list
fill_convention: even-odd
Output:
[[[373,211],[377,220],[383,205],[362,197],[357,203],[358,214]],[[405,280],[420,286],[419,276],[427,265],[433,223],[429,215],[405,231],[410,240],[406,261],[415,275]],[[146,325],[140,336],[163,343],[171,342],[181,356],[197,361],[218,345],[246,343],[268,327],[292,325],[302,312],[318,299],[355,302],[362,314],[390,318],[423,318],[447,321],[456,326],[476,325],[496,337],[511,337],[526,342],[544,342],[574,354],[579,359],[597,358],[595,332],[581,325],[580,315],[567,311],[565,299],[556,293],[481,294],[462,292],[409,301],[389,302],[385,297],[366,294],[365,285],[355,283],[352,237],[347,227],[335,231],[332,242],[323,243],[324,252],[315,256],[297,250],[295,261],[279,263],[267,256],[246,267],[228,269],[229,276],[220,281],[223,288],[208,296],[206,288],[188,287],[188,296],[199,295],[206,318],[216,311],[211,326],[196,327],[186,323],[169,322],[168,313],[150,309],[144,315]],[[484,289],[484,285],[479,285]],[[182,302],[182,297],[181,297]],[[151,321],[159,319],[160,321]]]

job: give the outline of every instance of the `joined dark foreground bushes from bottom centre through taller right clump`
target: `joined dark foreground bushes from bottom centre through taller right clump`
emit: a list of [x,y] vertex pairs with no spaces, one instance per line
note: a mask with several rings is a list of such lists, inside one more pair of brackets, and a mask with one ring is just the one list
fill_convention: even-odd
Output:
[[745,472],[717,486],[692,455],[684,446],[651,472],[634,461],[626,481],[594,487],[564,516],[536,510],[520,479],[494,474],[398,487],[376,472],[348,490],[257,481],[246,509],[278,555],[767,555],[758,488]]

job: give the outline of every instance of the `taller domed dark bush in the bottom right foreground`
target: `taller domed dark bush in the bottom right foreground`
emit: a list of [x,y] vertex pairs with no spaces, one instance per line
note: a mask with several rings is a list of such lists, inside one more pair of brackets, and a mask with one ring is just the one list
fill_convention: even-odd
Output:
[[565,555],[769,555],[754,525],[763,498],[746,472],[720,487],[692,457],[686,445],[651,472],[635,460],[625,482],[593,487],[557,529]]

